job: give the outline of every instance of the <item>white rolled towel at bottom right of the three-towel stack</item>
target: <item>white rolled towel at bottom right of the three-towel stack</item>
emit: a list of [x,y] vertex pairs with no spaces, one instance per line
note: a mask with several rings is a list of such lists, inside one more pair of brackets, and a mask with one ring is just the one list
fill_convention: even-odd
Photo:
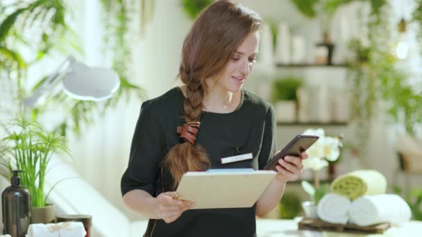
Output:
[[363,196],[354,200],[349,211],[351,221],[356,225],[366,226],[381,222],[399,225],[412,216],[410,207],[396,194]]

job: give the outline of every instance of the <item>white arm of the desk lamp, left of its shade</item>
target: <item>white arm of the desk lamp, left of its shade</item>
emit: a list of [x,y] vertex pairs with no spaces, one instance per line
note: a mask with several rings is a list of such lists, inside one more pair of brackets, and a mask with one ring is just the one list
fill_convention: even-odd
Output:
[[54,73],[50,74],[50,76],[44,80],[44,82],[41,83],[35,91],[31,94],[31,96],[28,96],[24,99],[24,107],[34,107],[35,103],[40,99],[40,97],[45,93],[45,91],[48,91],[56,85],[57,82],[60,81],[60,78],[62,78],[62,73],[60,73],[60,69],[65,66],[65,64],[69,62],[75,62],[75,59],[72,56],[68,56],[65,61],[63,61],[60,66],[54,71]]

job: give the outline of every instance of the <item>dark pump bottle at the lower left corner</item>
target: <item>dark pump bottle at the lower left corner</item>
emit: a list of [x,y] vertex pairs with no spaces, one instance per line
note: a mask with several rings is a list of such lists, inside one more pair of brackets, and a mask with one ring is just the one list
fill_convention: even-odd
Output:
[[31,224],[31,198],[28,188],[22,187],[17,173],[13,170],[10,186],[1,193],[1,207],[3,208],[3,234],[12,237],[25,237]]

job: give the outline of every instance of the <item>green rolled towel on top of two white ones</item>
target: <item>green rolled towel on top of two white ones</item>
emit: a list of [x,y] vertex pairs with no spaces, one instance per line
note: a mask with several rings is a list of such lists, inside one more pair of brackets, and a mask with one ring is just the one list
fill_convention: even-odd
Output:
[[387,179],[377,170],[356,170],[334,179],[332,193],[344,195],[351,200],[362,195],[383,194],[387,189]]

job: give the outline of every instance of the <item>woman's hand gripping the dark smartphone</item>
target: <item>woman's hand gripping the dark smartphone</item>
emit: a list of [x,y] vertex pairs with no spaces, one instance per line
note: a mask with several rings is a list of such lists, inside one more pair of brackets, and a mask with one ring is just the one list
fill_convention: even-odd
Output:
[[303,170],[303,159],[307,159],[307,157],[307,153],[302,152],[300,157],[287,155],[283,159],[279,159],[276,166],[278,171],[276,179],[281,182],[294,181],[298,179]]

